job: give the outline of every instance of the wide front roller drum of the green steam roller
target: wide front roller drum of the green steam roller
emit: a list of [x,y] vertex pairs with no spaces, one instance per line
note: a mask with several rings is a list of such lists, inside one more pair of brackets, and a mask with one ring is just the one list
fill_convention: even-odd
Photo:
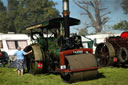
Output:
[[[79,70],[97,67],[95,57],[90,54],[78,54],[66,56],[66,67],[68,70]],[[78,72],[65,72],[61,74],[61,77],[66,82],[76,82],[97,78],[97,69],[84,70]]]

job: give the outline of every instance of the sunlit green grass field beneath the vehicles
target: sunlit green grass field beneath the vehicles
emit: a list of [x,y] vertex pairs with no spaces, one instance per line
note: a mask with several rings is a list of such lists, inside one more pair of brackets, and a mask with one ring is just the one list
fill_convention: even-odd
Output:
[[63,82],[59,75],[17,76],[15,68],[0,67],[0,85],[128,85],[128,68],[101,68],[99,78],[72,84]]

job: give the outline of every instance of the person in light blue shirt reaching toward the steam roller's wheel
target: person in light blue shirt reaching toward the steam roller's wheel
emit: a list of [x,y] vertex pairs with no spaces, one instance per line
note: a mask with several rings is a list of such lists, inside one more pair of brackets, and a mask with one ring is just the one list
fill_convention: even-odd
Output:
[[23,70],[24,70],[24,55],[27,55],[29,53],[31,53],[31,51],[29,52],[24,52],[21,50],[21,47],[17,47],[17,51],[14,53],[14,56],[17,57],[17,60],[16,60],[16,64],[17,64],[17,71],[18,71],[18,75],[23,75]]

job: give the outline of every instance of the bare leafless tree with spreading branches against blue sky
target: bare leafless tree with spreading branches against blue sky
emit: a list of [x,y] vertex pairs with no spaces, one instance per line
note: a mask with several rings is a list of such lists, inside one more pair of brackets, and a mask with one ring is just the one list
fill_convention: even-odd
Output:
[[[108,22],[109,17],[105,17],[110,12],[101,15],[107,8],[101,7],[101,0],[73,0],[77,6],[84,10],[84,14],[91,20],[91,26],[95,28],[96,33],[102,31],[102,27]],[[93,9],[93,11],[90,11]],[[94,14],[93,14],[94,13]]]

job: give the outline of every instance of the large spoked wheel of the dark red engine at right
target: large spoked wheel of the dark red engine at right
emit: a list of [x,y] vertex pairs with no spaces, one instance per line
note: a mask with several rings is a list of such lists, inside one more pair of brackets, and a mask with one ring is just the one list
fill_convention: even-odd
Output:
[[101,43],[97,46],[95,56],[100,67],[113,65],[115,51],[110,43]]

